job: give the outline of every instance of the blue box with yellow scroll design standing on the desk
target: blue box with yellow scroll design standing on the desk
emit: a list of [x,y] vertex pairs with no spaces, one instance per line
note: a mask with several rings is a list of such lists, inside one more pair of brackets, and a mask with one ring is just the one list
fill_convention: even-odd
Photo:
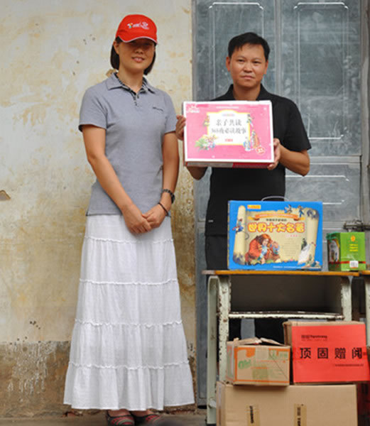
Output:
[[229,201],[227,261],[229,269],[320,270],[322,203]]

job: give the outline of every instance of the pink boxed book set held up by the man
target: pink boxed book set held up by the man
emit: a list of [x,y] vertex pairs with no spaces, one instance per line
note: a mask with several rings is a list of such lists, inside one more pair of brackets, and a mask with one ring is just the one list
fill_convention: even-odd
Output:
[[273,163],[270,101],[184,102],[185,165],[266,168]]

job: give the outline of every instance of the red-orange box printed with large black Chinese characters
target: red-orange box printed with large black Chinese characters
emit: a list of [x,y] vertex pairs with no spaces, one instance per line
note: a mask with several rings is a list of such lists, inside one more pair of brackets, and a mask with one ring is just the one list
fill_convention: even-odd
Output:
[[293,383],[370,380],[365,324],[289,321],[284,335],[292,346]]

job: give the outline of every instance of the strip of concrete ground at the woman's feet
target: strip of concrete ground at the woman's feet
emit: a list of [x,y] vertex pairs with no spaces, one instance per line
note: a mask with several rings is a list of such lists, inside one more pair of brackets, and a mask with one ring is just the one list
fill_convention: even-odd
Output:
[[[181,426],[205,426],[205,414],[166,415],[180,422]],[[0,426],[105,426],[104,413],[82,417],[58,417],[43,419],[0,419]]]

